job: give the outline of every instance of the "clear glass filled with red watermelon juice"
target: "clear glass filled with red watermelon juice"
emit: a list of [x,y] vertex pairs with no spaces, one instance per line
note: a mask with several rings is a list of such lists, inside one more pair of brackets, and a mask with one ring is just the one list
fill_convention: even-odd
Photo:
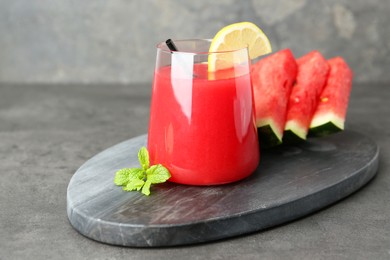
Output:
[[210,43],[157,45],[148,150],[175,183],[230,183],[259,164],[248,50],[210,53]]

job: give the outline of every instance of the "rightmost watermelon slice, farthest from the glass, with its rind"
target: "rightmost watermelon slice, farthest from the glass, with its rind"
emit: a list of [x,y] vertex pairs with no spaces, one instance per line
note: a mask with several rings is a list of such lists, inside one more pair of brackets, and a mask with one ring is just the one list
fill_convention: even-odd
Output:
[[352,70],[341,57],[328,60],[330,72],[310,124],[310,135],[325,136],[344,129],[352,88]]

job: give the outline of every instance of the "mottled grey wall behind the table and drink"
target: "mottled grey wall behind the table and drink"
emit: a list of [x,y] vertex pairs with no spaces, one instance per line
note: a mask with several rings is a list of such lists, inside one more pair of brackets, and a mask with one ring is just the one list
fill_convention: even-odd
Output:
[[251,21],[275,51],[341,55],[390,81],[389,0],[0,0],[0,82],[151,81],[155,44]]

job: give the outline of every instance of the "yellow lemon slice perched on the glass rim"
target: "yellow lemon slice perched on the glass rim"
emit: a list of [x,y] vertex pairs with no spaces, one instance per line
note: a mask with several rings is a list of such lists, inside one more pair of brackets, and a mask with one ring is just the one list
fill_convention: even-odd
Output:
[[[272,52],[271,43],[264,32],[250,22],[234,23],[222,28],[213,38],[209,52],[234,51],[248,47],[250,59]],[[234,60],[233,60],[234,59]],[[210,54],[208,70],[231,67],[237,57],[229,53]]]

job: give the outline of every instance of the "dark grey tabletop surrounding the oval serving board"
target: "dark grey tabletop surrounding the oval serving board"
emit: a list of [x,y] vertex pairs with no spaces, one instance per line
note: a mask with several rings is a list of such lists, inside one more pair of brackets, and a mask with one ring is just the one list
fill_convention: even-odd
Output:
[[346,128],[380,147],[377,176],[315,214],[262,232],[168,248],[110,246],[66,215],[74,172],[147,132],[150,84],[0,84],[0,259],[390,259],[390,83],[354,84]]

